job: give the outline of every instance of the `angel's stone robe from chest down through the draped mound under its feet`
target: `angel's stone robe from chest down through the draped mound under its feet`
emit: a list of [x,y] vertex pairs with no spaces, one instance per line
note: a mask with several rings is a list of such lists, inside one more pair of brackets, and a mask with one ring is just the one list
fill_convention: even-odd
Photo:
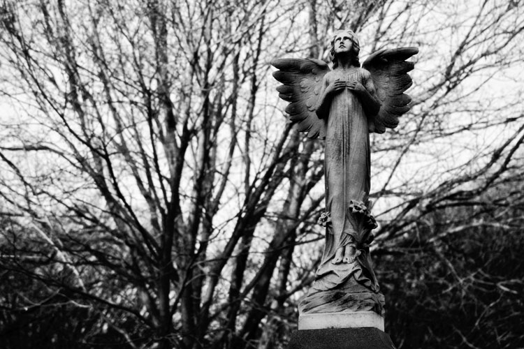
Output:
[[[326,73],[320,96],[335,80],[358,81],[374,94],[370,73],[362,68],[337,68]],[[371,267],[367,239],[371,235],[367,200],[370,193],[370,135],[361,100],[344,89],[330,97],[326,121],[325,177],[326,246],[309,294],[300,313],[374,311],[383,314],[384,296],[379,293]],[[317,112],[318,114],[318,112]],[[357,207],[357,210],[354,209]],[[365,214],[362,214],[365,207]],[[360,209],[360,211],[358,211]],[[354,262],[333,264],[337,248],[352,244],[360,251]]]

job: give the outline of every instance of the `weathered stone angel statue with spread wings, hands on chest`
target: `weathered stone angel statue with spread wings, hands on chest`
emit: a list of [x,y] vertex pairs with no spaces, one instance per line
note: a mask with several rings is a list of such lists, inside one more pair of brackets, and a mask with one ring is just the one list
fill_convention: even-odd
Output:
[[[416,47],[380,50],[361,64],[353,31],[337,31],[331,40],[333,69],[318,59],[275,59],[273,73],[282,82],[279,97],[290,102],[289,119],[309,138],[325,140],[326,245],[312,288],[299,305],[309,313],[384,313],[372,269],[369,244],[377,228],[370,214],[370,132],[395,128],[409,110],[404,94]],[[300,321],[300,320],[299,320]],[[300,328],[300,325],[299,325]]]

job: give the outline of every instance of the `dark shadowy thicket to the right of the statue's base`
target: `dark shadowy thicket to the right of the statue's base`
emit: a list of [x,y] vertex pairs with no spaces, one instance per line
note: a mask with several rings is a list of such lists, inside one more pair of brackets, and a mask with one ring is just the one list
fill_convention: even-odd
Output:
[[523,209],[486,205],[443,209],[380,258],[398,348],[524,347]]

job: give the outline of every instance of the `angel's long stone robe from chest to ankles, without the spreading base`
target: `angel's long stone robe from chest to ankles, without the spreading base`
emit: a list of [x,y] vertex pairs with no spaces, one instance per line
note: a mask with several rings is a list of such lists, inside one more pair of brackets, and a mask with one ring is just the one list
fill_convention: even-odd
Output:
[[[326,74],[324,88],[337,79],[358,81],[364,87],[372,83],[362,68],[337,69]],[[370,193],[370,135],[362,103],[353,91],[344,89],[333,95],[326,122],[326,211],[332,224],[328,225],[323,262],[333,258],[351,237],[359,240],[346,213],[351,200],[366,204]]]

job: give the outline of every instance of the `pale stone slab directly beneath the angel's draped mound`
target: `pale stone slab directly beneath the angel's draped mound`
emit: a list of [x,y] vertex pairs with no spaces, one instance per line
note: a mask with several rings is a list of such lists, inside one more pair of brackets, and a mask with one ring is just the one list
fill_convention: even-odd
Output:
[[298,316],[298,330],[374,327],[384,331],[384,318],[374,311],[351,313],[312,313]]

